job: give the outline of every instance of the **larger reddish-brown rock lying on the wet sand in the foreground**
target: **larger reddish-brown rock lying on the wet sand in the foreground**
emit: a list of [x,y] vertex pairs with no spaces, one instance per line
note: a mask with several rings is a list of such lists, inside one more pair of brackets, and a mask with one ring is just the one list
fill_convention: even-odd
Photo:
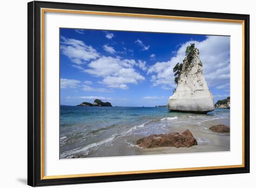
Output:
[[196,139],[189,130],[182,133],[171,132],[168,134],[150,135],[145,138],[137,140],[136,144],[143,148],[157,148],[157,147],[190,147],[197,145]]

